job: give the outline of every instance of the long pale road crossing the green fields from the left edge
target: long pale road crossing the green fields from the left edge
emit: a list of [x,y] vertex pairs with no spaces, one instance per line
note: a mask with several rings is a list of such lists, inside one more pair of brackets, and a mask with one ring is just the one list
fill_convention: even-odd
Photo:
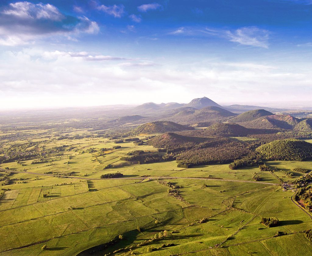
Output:
[[[37,172],[23,172],[23,171],[12,171],[5,170],[0,168],[2,171],[6,172],[14,172],[14,173],[27,173],[41,176],[56,176],[53,174],[45,174],[45,173],[37,173]],[[100,178],[84,178],[84,177],[76,177],[76,176],[60,176],[64,178],[70,179],[80,179],[80,180],[103,180]],[[106,180],[142,180],[142,179],[164,179],[164,180],[173,180],[173,179],[189,179],[189,180],[220,180],[220,181],[234,181],[234,182],[248,182],[248,183],[260,183],[260,184],[268,184],[268,185],[280,185],[276,183],[269,182],[261,182],[261,181],[249,181],[249,180],[225,180],[225,179],[213,179],[213,178],[201,178],[201,177],[172,177],[172,176],[144,176],[144,177],[131,177],[131,178],[108,178]]]

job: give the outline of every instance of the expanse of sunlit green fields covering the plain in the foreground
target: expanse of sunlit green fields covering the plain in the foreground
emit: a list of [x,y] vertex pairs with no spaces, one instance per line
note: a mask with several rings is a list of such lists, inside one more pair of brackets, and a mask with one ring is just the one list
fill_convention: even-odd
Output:
[[[88,134],[86,130],[64,133]],[[293,192],[282,191],[280,186],[280,180],[293,180],[300,173],[289,178],[280,171],[261,172],[258,167],[230,170],[228,164],[184,169],[175,161],[119,166],[124,163],[120,156],[128,152],[156,149],[124,142],[118,144],[120,149],[108,150],[97,158],[87,152],[115,146],[108,138],[38,137],[4,141],[2,147],[31,141],[38,141],[44,150],[60,146],[72,150],[47,157],[44,163],[25,160],[1,165],[20,172],[12,173],[14,181],[2,186],[10,190],[4,191],[0,200],[1,255],[82,256],[90,251],[105,255],[125,247],[114,255],[130,255],[131,251],[135,255],[232,256],[312,252],[302,234],[312,228],[312,221],[290,200]],[[108,164],[115,167],[104,169]],[[312,169],[312,162],[266,164],[289,171]],[[117,171],[130,179],[100,179],[102,174]],[[70,178],[60,176],[69,173]],[[255,174],[261,177],[260,182],[254,182]],[[179,186],[178,196],[168,194],[166,182]],[[280,225],[267,228],[260,224],[261,217],[277,217]],[[204,218],[204,223],[199,223]],[[168,231],[167,236],[149,241],[163,230]],[[274,237],[277,231],[287,235]],[[107,244],[119,234],[124,239]],[[139,245],[142,241],[149,242]],[[173,245],[160,248],[162,244]],[[294,249],[293,244],[300,244],[300,249]],[[45,250],[41,250],[43,245]]]

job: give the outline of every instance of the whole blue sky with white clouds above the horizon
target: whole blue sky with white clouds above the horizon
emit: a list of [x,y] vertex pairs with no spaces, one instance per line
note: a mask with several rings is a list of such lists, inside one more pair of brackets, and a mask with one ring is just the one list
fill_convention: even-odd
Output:
[[0,107],[312,106],[312,0],[0,0]]

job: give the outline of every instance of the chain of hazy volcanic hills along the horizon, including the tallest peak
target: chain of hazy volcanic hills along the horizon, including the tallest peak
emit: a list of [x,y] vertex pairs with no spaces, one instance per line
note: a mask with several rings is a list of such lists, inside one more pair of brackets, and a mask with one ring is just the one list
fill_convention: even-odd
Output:
[[[247,129],[312,132],[311,118],[299,119],[289,115],[289,113],[291,113],[291,111],[263,108],[260,106],[220,106],[215,101],[207,97],[202,97],[193,99],[188,104],[177,102],[161,104],[156,104],[154,102],[144,103],[134,108],[124,110],[125,116],[108,120],[107,123],[114,126],[135,126],[145,123],[142,127],[137,127],[139,129],[134,131],[134,134],[172,132],[185,130],[185,126],[208,127],[216,123],[238,124]],[[296,113],[294,112],[294,114]],[[179,127],[178,125],[183,125],[184,127]],[[217,127],[221,129],[220,125]],[[225,126],[223,128],[225,129]],[[238,130],[238,126],[231,126],[231,129],[232,128]],[[224,133],[224,131],[222,131],[222,133]],[[241,128],[238,134],[244,133],[246,133],[246,130]]]

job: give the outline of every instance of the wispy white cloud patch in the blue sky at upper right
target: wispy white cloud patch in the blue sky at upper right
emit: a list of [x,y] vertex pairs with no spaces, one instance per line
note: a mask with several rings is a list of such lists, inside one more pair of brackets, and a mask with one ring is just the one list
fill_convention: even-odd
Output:
[[227,36],[231,42],[243,45],[269,48],[269,31],[258,27],[242,27],[235,31],[227,31]]

